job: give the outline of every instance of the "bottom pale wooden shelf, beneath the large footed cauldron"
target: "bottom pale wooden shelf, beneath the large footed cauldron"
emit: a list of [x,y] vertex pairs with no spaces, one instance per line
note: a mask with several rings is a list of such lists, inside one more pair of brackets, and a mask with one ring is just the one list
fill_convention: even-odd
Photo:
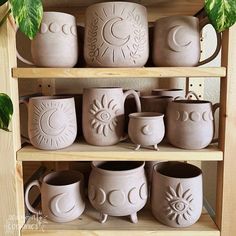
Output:
[[[87,207],[87,206],[86,206]],[[35,220],[35,217],[28,219],[21,235],[50,235],[50,236],[220,236],[215,223],[208,213],[202,213],[199,221],[187,228],[170,228],[159,223],[152,215],[150,209],[143,209],[138,213],[139,222],[137,224],[130,223],[128,217],[108,217],[105,224],[98,222],[99,213],[95,210],[87,209],[78,220],[59,224],[48,220],[43,223]]]

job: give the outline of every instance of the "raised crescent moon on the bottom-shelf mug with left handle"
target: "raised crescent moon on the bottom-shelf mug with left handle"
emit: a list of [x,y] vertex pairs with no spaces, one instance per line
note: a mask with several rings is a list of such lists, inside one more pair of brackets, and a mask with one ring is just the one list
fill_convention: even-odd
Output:
[[60,209],[59,206],[59,201],[65,197],[65,195],[67,195],[67,193],[61,193],[56,195],[55,197],[52,198],[51,202],[50,202],[50,210],[52,212],[53,215],[60,217],[60,218],[67,218],[70,217],[71,215],[74,214],[74,212],[76,211],[75,208],[75,204],[72,206],[71,209],[69,209],[68,211],[62,211]]

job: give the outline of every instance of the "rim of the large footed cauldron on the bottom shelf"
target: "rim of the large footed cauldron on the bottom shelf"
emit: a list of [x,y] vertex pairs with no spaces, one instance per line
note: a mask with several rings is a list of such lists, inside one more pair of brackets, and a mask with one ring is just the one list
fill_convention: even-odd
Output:
[[[114,161],[92,161],[91,162],[92,169],[97,171],[100,174],[120,176],[120,175],[134,174],[136,172],[139,172],[142,169],[144,170],[144,165],[145,165],[145,161],[134,161],[134,162],[140,163],[140,165],[138,167],[135,167],[129,170],[106,170],[106,169],[99,168],[98,165],[105,162],[114,162]],[[126,161],[121,161],[121,162],[126,162]]]

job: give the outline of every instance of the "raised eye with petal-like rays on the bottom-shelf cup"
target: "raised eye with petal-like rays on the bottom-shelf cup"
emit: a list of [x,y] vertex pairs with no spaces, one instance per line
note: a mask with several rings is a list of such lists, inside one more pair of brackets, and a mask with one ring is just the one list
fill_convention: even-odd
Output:
[[166,212],[170,220],[176,220],[176,223],[180,225],[183,219],[187,221],[192,215],[193,195],[190,193],[190,189],[183,192],[180,183],[177,185],[176,191],[169,186],[166,192],[166,200],[168,201]]

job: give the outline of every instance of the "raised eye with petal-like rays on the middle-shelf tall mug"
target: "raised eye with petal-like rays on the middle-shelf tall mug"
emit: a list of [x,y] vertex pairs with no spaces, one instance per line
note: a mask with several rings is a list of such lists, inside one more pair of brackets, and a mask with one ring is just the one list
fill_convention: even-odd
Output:
[[114,131],[117,126],[116,114],[119,111],[114,100],[107,101],[106,95],[102,96],[101,102],[97,99],[91,105],[90,113],[93,115],[91,126],[98,134],[108,135],[108,131]]

